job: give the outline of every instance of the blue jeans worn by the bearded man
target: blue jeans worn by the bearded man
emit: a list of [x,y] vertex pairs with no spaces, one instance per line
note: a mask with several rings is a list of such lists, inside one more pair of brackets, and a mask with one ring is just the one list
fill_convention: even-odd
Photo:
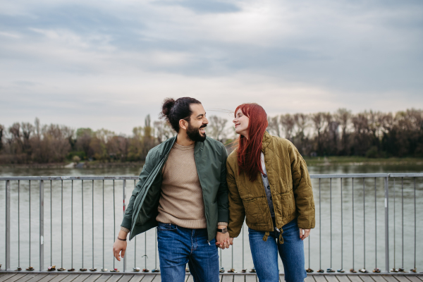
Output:
[[157,227],[161,281],[185,281],[188,262],[195,282],[219,281],[216,239],[207,243],[207,229],[190,229],[170,223]]

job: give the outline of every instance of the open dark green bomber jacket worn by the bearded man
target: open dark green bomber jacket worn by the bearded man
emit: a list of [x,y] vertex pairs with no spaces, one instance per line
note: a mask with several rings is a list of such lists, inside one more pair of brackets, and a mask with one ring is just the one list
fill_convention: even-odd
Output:
[[[140,181],[133,190],[121,224],[130,230],[130,240],[158,225],[156,216],[161,196],[161,171],[175,141],[176,137],[171,137],[147,154]],[[211,241],[216,237],[217,223],[229,220],[226,184],[228,152],[221,142],[207,137],[204,142],[195,142],[194,157],[202,187],[208,240]]]

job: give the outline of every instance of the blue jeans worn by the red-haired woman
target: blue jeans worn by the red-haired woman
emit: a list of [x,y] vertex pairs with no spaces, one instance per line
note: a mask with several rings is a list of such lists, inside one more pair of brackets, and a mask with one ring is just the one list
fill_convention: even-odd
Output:
[[248,228],[252,262],[260,282],[279,281],[278,252],[281,256],[285,281],[302,282],[307,277],[304,264],[304,244],[300,239],[297,219],[282,228],[283,244],[278,244],[276,231],[270,232],[267,241],[264,232]]

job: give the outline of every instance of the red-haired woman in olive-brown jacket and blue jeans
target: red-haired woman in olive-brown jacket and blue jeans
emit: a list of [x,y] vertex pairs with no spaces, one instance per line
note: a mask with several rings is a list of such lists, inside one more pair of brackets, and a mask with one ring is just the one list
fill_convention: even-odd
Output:
[[314,228],[314,200],[307,165],[290,141],[266,132],[267,115],[258,104],[235,110],[238,147],[226,162],[231,238],[244,218],[260,282],[279,281],[278,253],[285,280],[304,281],[304,245]]

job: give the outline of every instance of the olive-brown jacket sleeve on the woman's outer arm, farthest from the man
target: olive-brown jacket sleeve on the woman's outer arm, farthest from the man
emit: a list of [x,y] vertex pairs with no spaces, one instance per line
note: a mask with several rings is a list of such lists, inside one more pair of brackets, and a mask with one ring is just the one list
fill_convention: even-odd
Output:
[[293,145],[289,147],[290,166],[293,177],[293,192],[295,207],[298,212],[298,227],[303,229],[314,228],[314,199],[312,181],[307,170],[307,164],[300,152]]

